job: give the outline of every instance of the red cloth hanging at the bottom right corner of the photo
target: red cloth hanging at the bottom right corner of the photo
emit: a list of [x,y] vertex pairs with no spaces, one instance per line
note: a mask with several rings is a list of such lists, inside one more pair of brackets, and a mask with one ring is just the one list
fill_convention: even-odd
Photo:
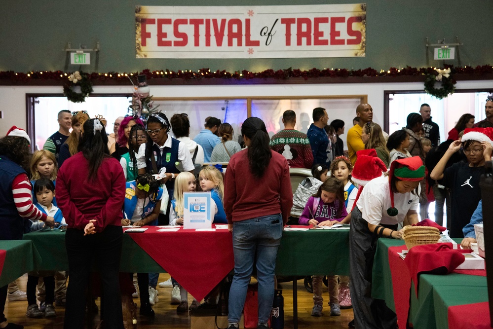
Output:
[[491,329],[489,307],[487,301],[449,306],[449,329]]

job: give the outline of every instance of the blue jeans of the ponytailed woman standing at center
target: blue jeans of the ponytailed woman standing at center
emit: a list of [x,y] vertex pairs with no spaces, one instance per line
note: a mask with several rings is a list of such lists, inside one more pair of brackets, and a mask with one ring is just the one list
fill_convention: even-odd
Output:
[[253,264],[257,261],[259,323],[266,323],[274,299],[274,269],[281,244],[282,216],[269,215],[233,222],[234,276],[229,290],[228,322],[239,323]]

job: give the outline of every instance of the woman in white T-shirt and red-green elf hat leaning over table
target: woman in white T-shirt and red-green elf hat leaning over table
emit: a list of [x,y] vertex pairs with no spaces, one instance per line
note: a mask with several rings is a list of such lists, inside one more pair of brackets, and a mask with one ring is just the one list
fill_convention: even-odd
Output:
[[[368,157],[366,166],[371,168],[371,163]],[[356,328],[396,328],[395,313],[383,300],[373,299],[368,293],[372,291],[375,256],[370,253],[370,247],[374,237],[402,239],[402,230],[397,231],[397,225],[405,218],[405,224],[418,222],[419,183],[423,179],[424,165],[420,157],[397,159],[390,165],[388,176],[380,176],[365,185],[351,212],[349,277]]]

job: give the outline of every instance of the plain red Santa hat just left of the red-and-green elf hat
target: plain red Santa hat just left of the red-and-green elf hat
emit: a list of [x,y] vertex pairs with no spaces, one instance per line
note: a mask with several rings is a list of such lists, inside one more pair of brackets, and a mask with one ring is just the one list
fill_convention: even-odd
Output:
[[[373,153],[375,155],[371,155]],[[377,157],[377,151],[373,148],[364,149],[356,152],[356,163],[351,173],[351,181],[365,186],[374,178],[382,176],[386,171],[387,167]]]

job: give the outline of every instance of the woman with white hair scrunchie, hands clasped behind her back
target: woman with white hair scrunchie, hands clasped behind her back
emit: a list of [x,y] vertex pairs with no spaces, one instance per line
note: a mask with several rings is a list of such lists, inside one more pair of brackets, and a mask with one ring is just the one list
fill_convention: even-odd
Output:
[[[101,122],[103,121],[103,122]],[[86,120],[78,153],[57,177],[57,203],[68,224],[65,246],[70,282],[64,328],[82,329],[93,259],[99,267],[106,329],[123,329],[118,272],[123,232],[125,176],[110,155],[105,120]]]

